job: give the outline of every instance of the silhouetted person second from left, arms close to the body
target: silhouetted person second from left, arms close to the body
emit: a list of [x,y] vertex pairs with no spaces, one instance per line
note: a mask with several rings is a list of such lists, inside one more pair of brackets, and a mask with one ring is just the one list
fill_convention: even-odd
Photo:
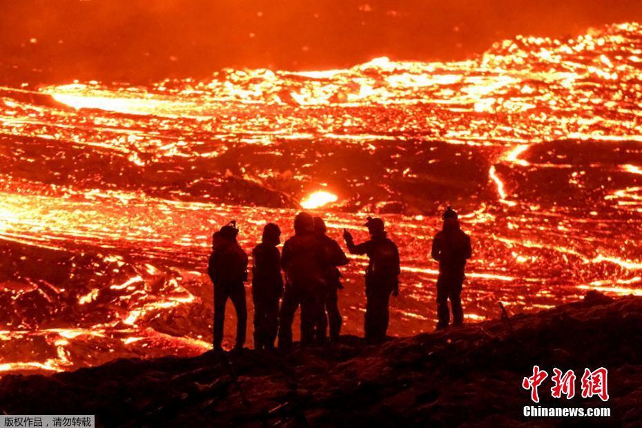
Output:
[[274,223],[263,228],[262,242],[252,251],[252,299],[254,302],[254,349],[274,349],[279,328],[279,299],[283,295],[280,244],[281,230]]

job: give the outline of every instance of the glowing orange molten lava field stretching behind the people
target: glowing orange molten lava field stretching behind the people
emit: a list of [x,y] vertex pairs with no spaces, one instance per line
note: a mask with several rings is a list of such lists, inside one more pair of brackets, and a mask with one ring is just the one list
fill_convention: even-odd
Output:
[[[237,220],[250,251],[266,222],[293,233],[301,207],[338,240],[385,220],[402,260],[392,334],[434,328],[446,204],[474,241],[469,320],[640,293],[641,52],[624,23],[467,61],[0,88],[0,371],[201,353],[213,231]],[[319,183],[333,193],[308,194]],[[346,333],[362,333],[366,265],[342,268]]]

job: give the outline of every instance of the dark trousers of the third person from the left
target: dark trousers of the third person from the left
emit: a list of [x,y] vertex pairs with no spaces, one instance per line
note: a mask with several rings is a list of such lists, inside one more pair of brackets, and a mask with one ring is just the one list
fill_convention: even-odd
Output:
[[301,306],[301,344],[314,341],[315,324],[322,315],[323,303],[319,284],[287,284],[279,313],[279,347],[288,349],[292,345],[292,322]]

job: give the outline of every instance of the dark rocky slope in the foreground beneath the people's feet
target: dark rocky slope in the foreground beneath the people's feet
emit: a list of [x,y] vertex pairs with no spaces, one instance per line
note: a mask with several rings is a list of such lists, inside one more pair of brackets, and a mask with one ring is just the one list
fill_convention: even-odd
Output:
[[[4,376],[6,414],[96,414],[104,426],[642,426],[642,298],[589,293],[534,315],[367,346],[287,357],[243,351],[116,360],[53,376]],[[610,418],[525,418],[521,387],[538,364],[574,369],[576,398],[543,407],[610,407]],[[609,370],[610,400],[581,398],[585,367]]]

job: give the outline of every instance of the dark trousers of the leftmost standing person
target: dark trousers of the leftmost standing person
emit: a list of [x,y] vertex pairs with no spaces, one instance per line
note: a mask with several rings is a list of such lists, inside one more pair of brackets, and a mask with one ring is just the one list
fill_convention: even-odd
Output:
[[242,282],[214,284],[214,349],[219,349],[223,343],[225,304],[228,298],[232,300],[236,311],[236,347],[242,347],[245,343],[247,329],[245,286]]

